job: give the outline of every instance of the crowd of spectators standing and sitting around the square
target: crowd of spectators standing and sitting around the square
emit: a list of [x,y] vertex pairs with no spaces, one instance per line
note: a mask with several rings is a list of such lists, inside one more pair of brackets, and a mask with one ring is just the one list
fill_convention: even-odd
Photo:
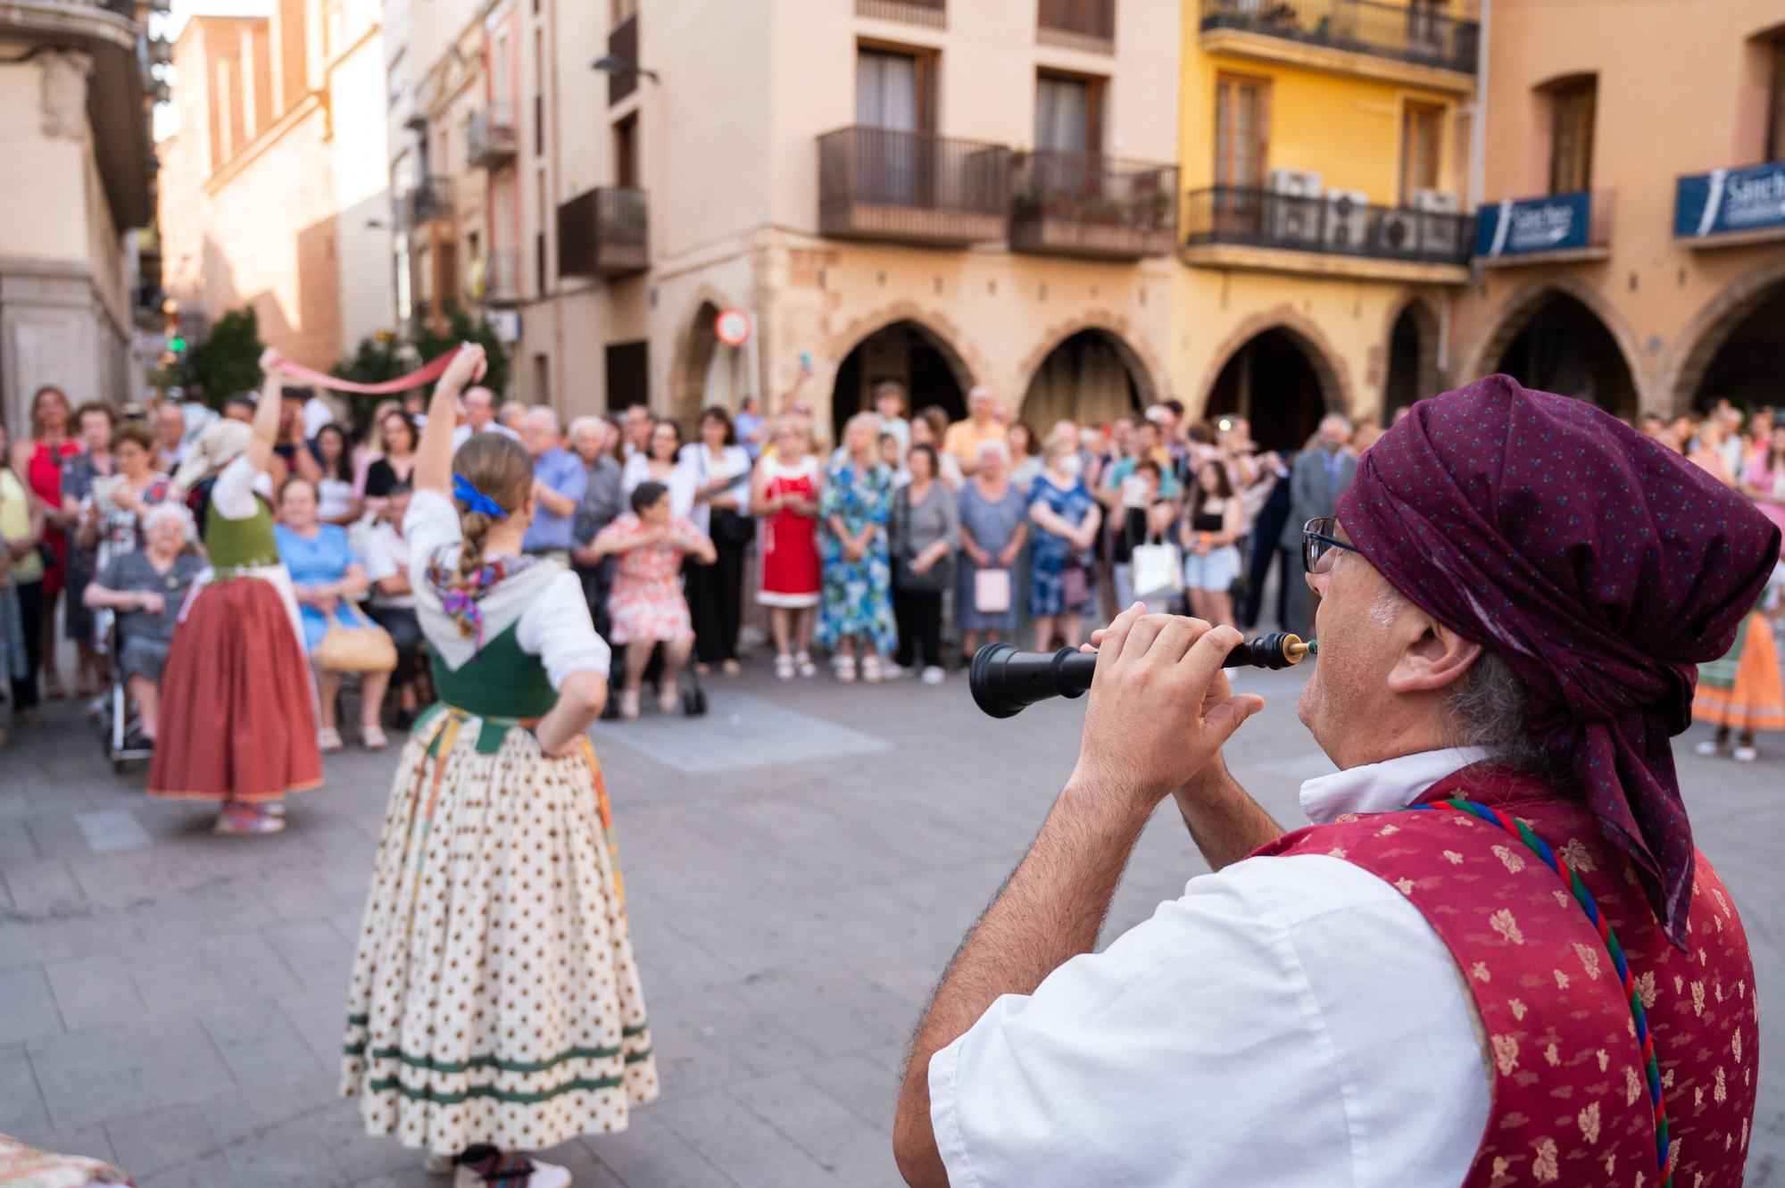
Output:
[[[314,656],[332,626],[389,635],[394,671],[359,674],[359,740],[384,747],[382,724],[407,726],[432,699],[402,532],[419,401],[384,401],[355,430],[327,394],[282,396],[270,503],[305,646]],[[646,681],[668,712],[687,665],[735,676],[750,623],[778,680],[816,678],[816,646],[841,683],[942,683],[985,642],[1076,646],[1135,601],[1307,637],[1301,526],[1332,516],[1382,433],[1333,414],[1296,451],[1260,450],[1244,417],[1192,423],[1176,401],[1042,428],[985,387],[951,421],[912,410],[892,380],[869,403],[823,451],[798,389],[771,412],[707,408],[684,433],[644,407],[564,426],[475,387],[455,441],[505,433],[532,455],[525,549],[580,574],[616,644],[616,708],[634,717]],[[232,398],[221,416],[252,408]],[[152,742],[159,665],[203,567],[168,473],[214,416],[166,400],[121,419],[46,387],[27,432],[9,450],[0,437],[0,667],[16,715],[30,721],[39,696],[95,697],[116,674]],[[1637,428],[1785,524],[1785,423],[1771,408],[1719,403]],[[77,646],[71,681],[57,623]],[[318,662],[316,681],[320,742],[339,749],[343,674]]]

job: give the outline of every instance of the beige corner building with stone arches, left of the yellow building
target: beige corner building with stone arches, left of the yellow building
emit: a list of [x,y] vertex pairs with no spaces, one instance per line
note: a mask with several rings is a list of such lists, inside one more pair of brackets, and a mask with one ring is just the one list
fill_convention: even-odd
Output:
[[[453,203],[452,264],[412,225],[403,271],[500,310],[518,396],[689,417],[798,382],[834,428],[882,378],[953,414],[987,384],[1039,426],[1178,394],[1175,4],[464,9],[482,107],[393,105]],[[419,41],[407,78],[457,62]]]

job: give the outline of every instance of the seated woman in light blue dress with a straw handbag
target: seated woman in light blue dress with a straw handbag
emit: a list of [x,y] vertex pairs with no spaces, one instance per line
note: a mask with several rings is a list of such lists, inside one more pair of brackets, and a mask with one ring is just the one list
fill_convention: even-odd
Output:
[[[386,492],[389,494],[389,492]],[[353,546],[346,540],[346,530],[339,524],[325,524],[316,514],[316,487],[307,478],[287,478],[278,489],[278,519],[273,537],[278,542],[278,557],[291,571],[291,585],[296,592],[298,606],[303,612],[303,651],[316,667],[316,696],[321,710],[321,730],[316,733],[316,746],[325,755],[341,749],[341,731],[336,728],[336,701],[341,697],[341,676],[346,671],[361,674],[359,685],[359,740],[368,751],[382,751],[391,746],[384,737],[382,712],[384,690],[391,683],[391,669],[396,667],[396,646],[377,623],[366,617],[355,598],[364,598],[371,589],[366,567],[353,555]],[[364,631],[359,640],[343,640],[337,631]],[[350,644],[371,644],[369,651],[382,655],[377,639],[382,635],[389,648],[391,664],[382,669],[378,655],[357,658],[359,651]],[[334,637],[330,640],[330,637]],[[325,644],[341,648],[343,658],[332,660]]]

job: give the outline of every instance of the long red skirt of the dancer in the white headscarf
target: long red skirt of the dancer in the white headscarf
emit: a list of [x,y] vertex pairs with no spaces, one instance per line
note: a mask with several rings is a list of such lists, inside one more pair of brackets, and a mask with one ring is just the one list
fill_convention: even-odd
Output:
[[311,667],[278,590],[207,585],[173,633],[148,794],[277,801],[323,781]]

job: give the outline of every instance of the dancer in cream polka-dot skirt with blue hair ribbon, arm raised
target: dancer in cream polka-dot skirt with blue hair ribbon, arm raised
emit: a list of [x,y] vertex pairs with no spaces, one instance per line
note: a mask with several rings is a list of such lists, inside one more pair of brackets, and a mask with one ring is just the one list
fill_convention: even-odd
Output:
[[621,1131],[657,1097],[602,769],[609,648],[577,574],[521,555],[534,467],[452,453],[462,346],[434,392],[403,533],[441,705],[403,749],[348,990],[341,1086],[457,1188],[560,1188],[521,1149]]

